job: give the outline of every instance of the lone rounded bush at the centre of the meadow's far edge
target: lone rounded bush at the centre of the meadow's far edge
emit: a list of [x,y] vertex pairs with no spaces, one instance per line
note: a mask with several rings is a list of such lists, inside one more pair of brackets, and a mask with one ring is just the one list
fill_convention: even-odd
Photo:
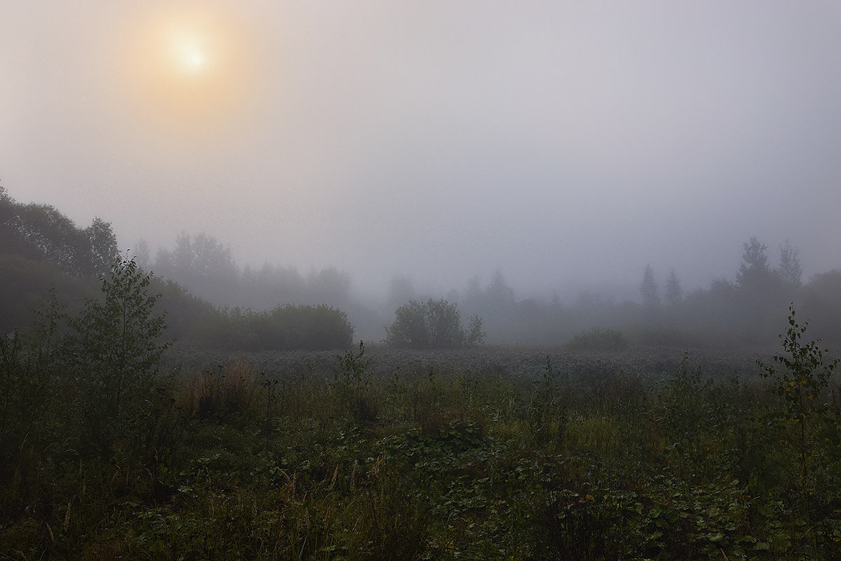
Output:
[[484,340],[479,316],[470,319],[465,331],[458,306],[445,299],[429,299],[423,304],[410,300],[394,315],[394,322],[385,328],[386,342],[393,347],[458,348],[479,345]]

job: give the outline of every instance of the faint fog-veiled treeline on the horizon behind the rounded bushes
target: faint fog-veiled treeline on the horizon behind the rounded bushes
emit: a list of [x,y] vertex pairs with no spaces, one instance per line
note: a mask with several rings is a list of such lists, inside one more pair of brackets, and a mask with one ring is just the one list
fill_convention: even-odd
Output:
[[[158,249],[154,259],[145,243],[139,247],[141,264],[147,263],[156,274],[172,278],[214,304],[253,310],[272,310],[278,303],[331,304],[362,325],[366,340],[400,346],[435,346],[407,343],[407,336],[395,337],[389,328],[399,320],[408,329],[399,317],[406,306],[441,299],[457,306],[464,318],[481,318],[485,341],[490,343],[554,345],[594,329],[612,329],[621,331],[624,345],[767,345],[775,342],[777,326],[792,302],[812,318],[813,329],[821,336],[841,341],[841,327],[835,320],[841,317],[841,305],[836,304],[841,302],[841,272],[818,274],[804,284],[796,247],[785,242],[772,266],[767,246],[756,237],[743,244],[742,262],[733,280],[717,278],[707,288],[685,292],[674,269],[661,285],[653,268],[646,266],[638,300],[584,292],[563,303],[557,295],[518,298],[497,271],[488,283],[474,277],[463,289],[447,294],[424,293],[415,289],[410,278],[395,277],[379,304],[362,304],[354,298],[351,278],[345,272],[325,268],[304,276],[294,267],[268,263],[259,269],[241,269],[230,246],[204,233],[182,233],[174,248]],[[428,338],[421,333],[413,337],[415,341]],[[458,337],[453,341],[458,343]]]

